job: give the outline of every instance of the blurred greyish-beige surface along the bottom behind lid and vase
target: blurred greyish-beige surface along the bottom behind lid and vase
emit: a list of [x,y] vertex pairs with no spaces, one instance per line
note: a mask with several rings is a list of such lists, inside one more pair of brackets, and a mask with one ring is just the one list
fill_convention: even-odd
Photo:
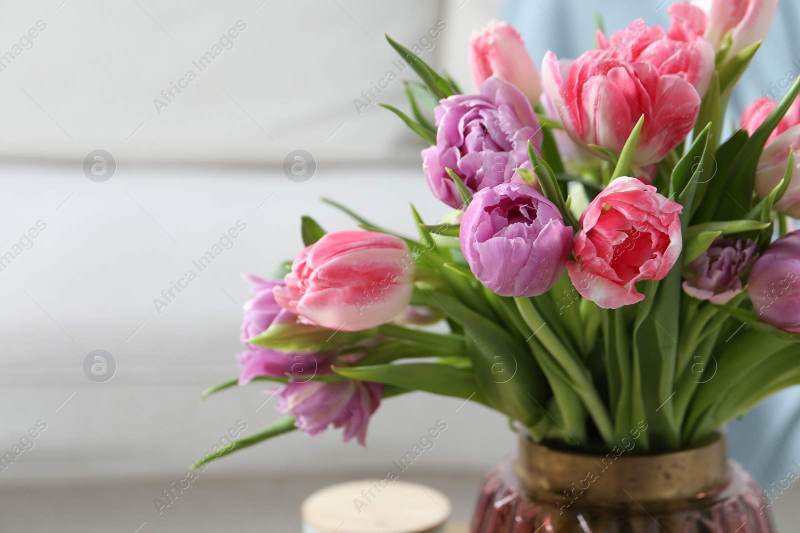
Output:
[[[354,476],[355,477],[355,476]],[[407,480],[444,492],[453,503],[447,533],[467,533],[482,475],[409,473]],[[200,478],[178,494],[161,514],[154,499],[170,481],[94,485],[32,485],[0,490],[0,531],[16,533],[94,533],[122,531],[300,531],[300,503],[311,492],[341,476],[309,479]],[[772,511],[780,533],[796,531],[800,520],[800,488],[791,486],[776,499]]]

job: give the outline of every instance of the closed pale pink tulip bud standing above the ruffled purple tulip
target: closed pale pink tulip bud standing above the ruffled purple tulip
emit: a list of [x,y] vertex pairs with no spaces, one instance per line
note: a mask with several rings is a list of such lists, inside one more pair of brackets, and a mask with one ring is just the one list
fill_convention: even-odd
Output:
[[536,65],[518,31],[508,22],[491,21],[483,30],[473,32],[470,70],[476,87],[494,76],[516,86],[534,105],[542,94]]

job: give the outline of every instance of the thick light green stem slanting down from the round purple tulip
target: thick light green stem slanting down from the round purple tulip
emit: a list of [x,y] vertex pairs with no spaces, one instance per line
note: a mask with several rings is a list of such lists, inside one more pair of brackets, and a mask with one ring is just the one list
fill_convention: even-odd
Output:
[[550,355],[553,356],[554,360],[558,362],[566,373],[566,377],[569,378],[574,391],[586,406],[586,411],[589,412],[592,420],[594,420],[594,424],[597,426],[606,445],[614,446],[614,426],[611,424],[611,417],[597,392],[597,388],[592,383],[589,369],[586,368],[586,365],[582,363],[578,356],[570,352],[558,340],[553,330],[542,320],[542,316],[539,315],[530,298],[514,298],[514,300],[517,303],[522,319],[525,320],[530,330],[534,332],[533,336],[537,337],[538,342],[544,346],[547,352],[550,352]]

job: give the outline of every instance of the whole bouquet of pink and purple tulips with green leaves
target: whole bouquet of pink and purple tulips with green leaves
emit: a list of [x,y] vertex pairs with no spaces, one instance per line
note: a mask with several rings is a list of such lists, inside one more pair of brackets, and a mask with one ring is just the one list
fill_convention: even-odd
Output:
[[198,464],[331,424],[365,444],[381,402],[411,391],[586,450],[646,428],[658,453],[800,384],[800,79],[724,133],[778,2],[704,3],[670,6],[666,30],[600,28],[541,74],[490,22],[471,39],[477,94],[387,37],[420,82],[410,116],[383,106],[430,145],[422,168],[454,211],[412,208],[417,237],[340,205],[361,229],[303,217],[306,249],[250,276],[241,376],[203,395],[278,382],[285,417]]

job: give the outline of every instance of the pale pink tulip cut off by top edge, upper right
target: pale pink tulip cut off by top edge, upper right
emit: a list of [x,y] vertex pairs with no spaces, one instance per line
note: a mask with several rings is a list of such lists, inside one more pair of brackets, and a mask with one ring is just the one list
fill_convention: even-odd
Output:
[[706,38],[714,48],[719,50],[732,31],[729,58],[763,41],[778,10],[778,0],[694,0],[692,4],[708,15]]

